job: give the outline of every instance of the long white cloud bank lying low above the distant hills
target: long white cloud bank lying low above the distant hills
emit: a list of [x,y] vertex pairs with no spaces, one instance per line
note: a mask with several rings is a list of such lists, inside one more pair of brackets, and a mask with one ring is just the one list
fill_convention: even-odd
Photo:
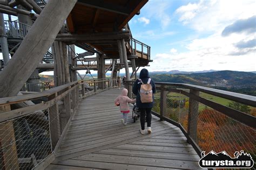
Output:
[[206,38],[194,39],[186,46],[188,52],[172,53],[171,50],[170,53],[158,53],[152,57],[154,62],[150,65],[152,70],[159,70],[159,66],[169,68],[165,69],[166,71],[176,69],[253,71],[256,70],[256,47],[241,51],[234,46],[244,38],[245,34],[232,34],[223,38],[220,33],[216,33]]

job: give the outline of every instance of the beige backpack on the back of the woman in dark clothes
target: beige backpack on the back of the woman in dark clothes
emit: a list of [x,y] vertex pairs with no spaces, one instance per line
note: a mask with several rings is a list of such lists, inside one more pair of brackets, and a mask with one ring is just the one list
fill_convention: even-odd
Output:
[[150,84],[151,79],[149,78],[146,84],[144,84],[141,79],[139,79],[139,81],[142,82],[139,90],[140,101],[142,101],[142,103],[153,102],[152,86]]

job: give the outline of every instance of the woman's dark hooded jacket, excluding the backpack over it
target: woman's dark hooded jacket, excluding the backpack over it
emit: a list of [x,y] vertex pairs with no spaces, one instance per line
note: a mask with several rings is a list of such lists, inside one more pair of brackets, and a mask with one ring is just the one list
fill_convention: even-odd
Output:
[[[141,71],[140,71],[140,74],[139,74],[139,78],[143,81],[144,84],[147,83],[147,80],[149,80],[149,71],[145,68],[143,68]],[[142,83],[139,83],[139,80],[137,79],[136,82],[134,83],[133,85],[133,88],[132,88],[132,93],[134,95],[136,95],[136,105],[138,108],[153,108],[153,102],[151,103],[142,103],[140,101],[140,95],[139,95],[139,90],[140,90],[140,86],[142,85]],[[154,84],[154,81],[151,79],[150,81],[150,84],[152,86],[152,91],[153,93],[156,93],[156,86]],[[154,95],[153,95],[153,101],[154,101]]]

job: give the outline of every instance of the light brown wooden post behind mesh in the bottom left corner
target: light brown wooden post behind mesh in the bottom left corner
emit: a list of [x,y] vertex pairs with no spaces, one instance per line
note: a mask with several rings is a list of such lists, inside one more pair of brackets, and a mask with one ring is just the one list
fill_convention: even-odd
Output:
[[[1,112],[10,110],[10,105],[0,106],[0,114]],[[2,165],[0,165],[1,169],[19,169],[14,126],[12,121],[0,124],[0,150],[0,158],[2,159],[0,161],[2,162]]]

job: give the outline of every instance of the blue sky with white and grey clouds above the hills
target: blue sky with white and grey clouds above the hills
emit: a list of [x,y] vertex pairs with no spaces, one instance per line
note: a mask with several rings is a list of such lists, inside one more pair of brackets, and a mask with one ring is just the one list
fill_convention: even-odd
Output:
[[149,0],[129,26],[133,38],[151,46],[150,72],[251,72],[256,71],[255,9],[255,0]]

